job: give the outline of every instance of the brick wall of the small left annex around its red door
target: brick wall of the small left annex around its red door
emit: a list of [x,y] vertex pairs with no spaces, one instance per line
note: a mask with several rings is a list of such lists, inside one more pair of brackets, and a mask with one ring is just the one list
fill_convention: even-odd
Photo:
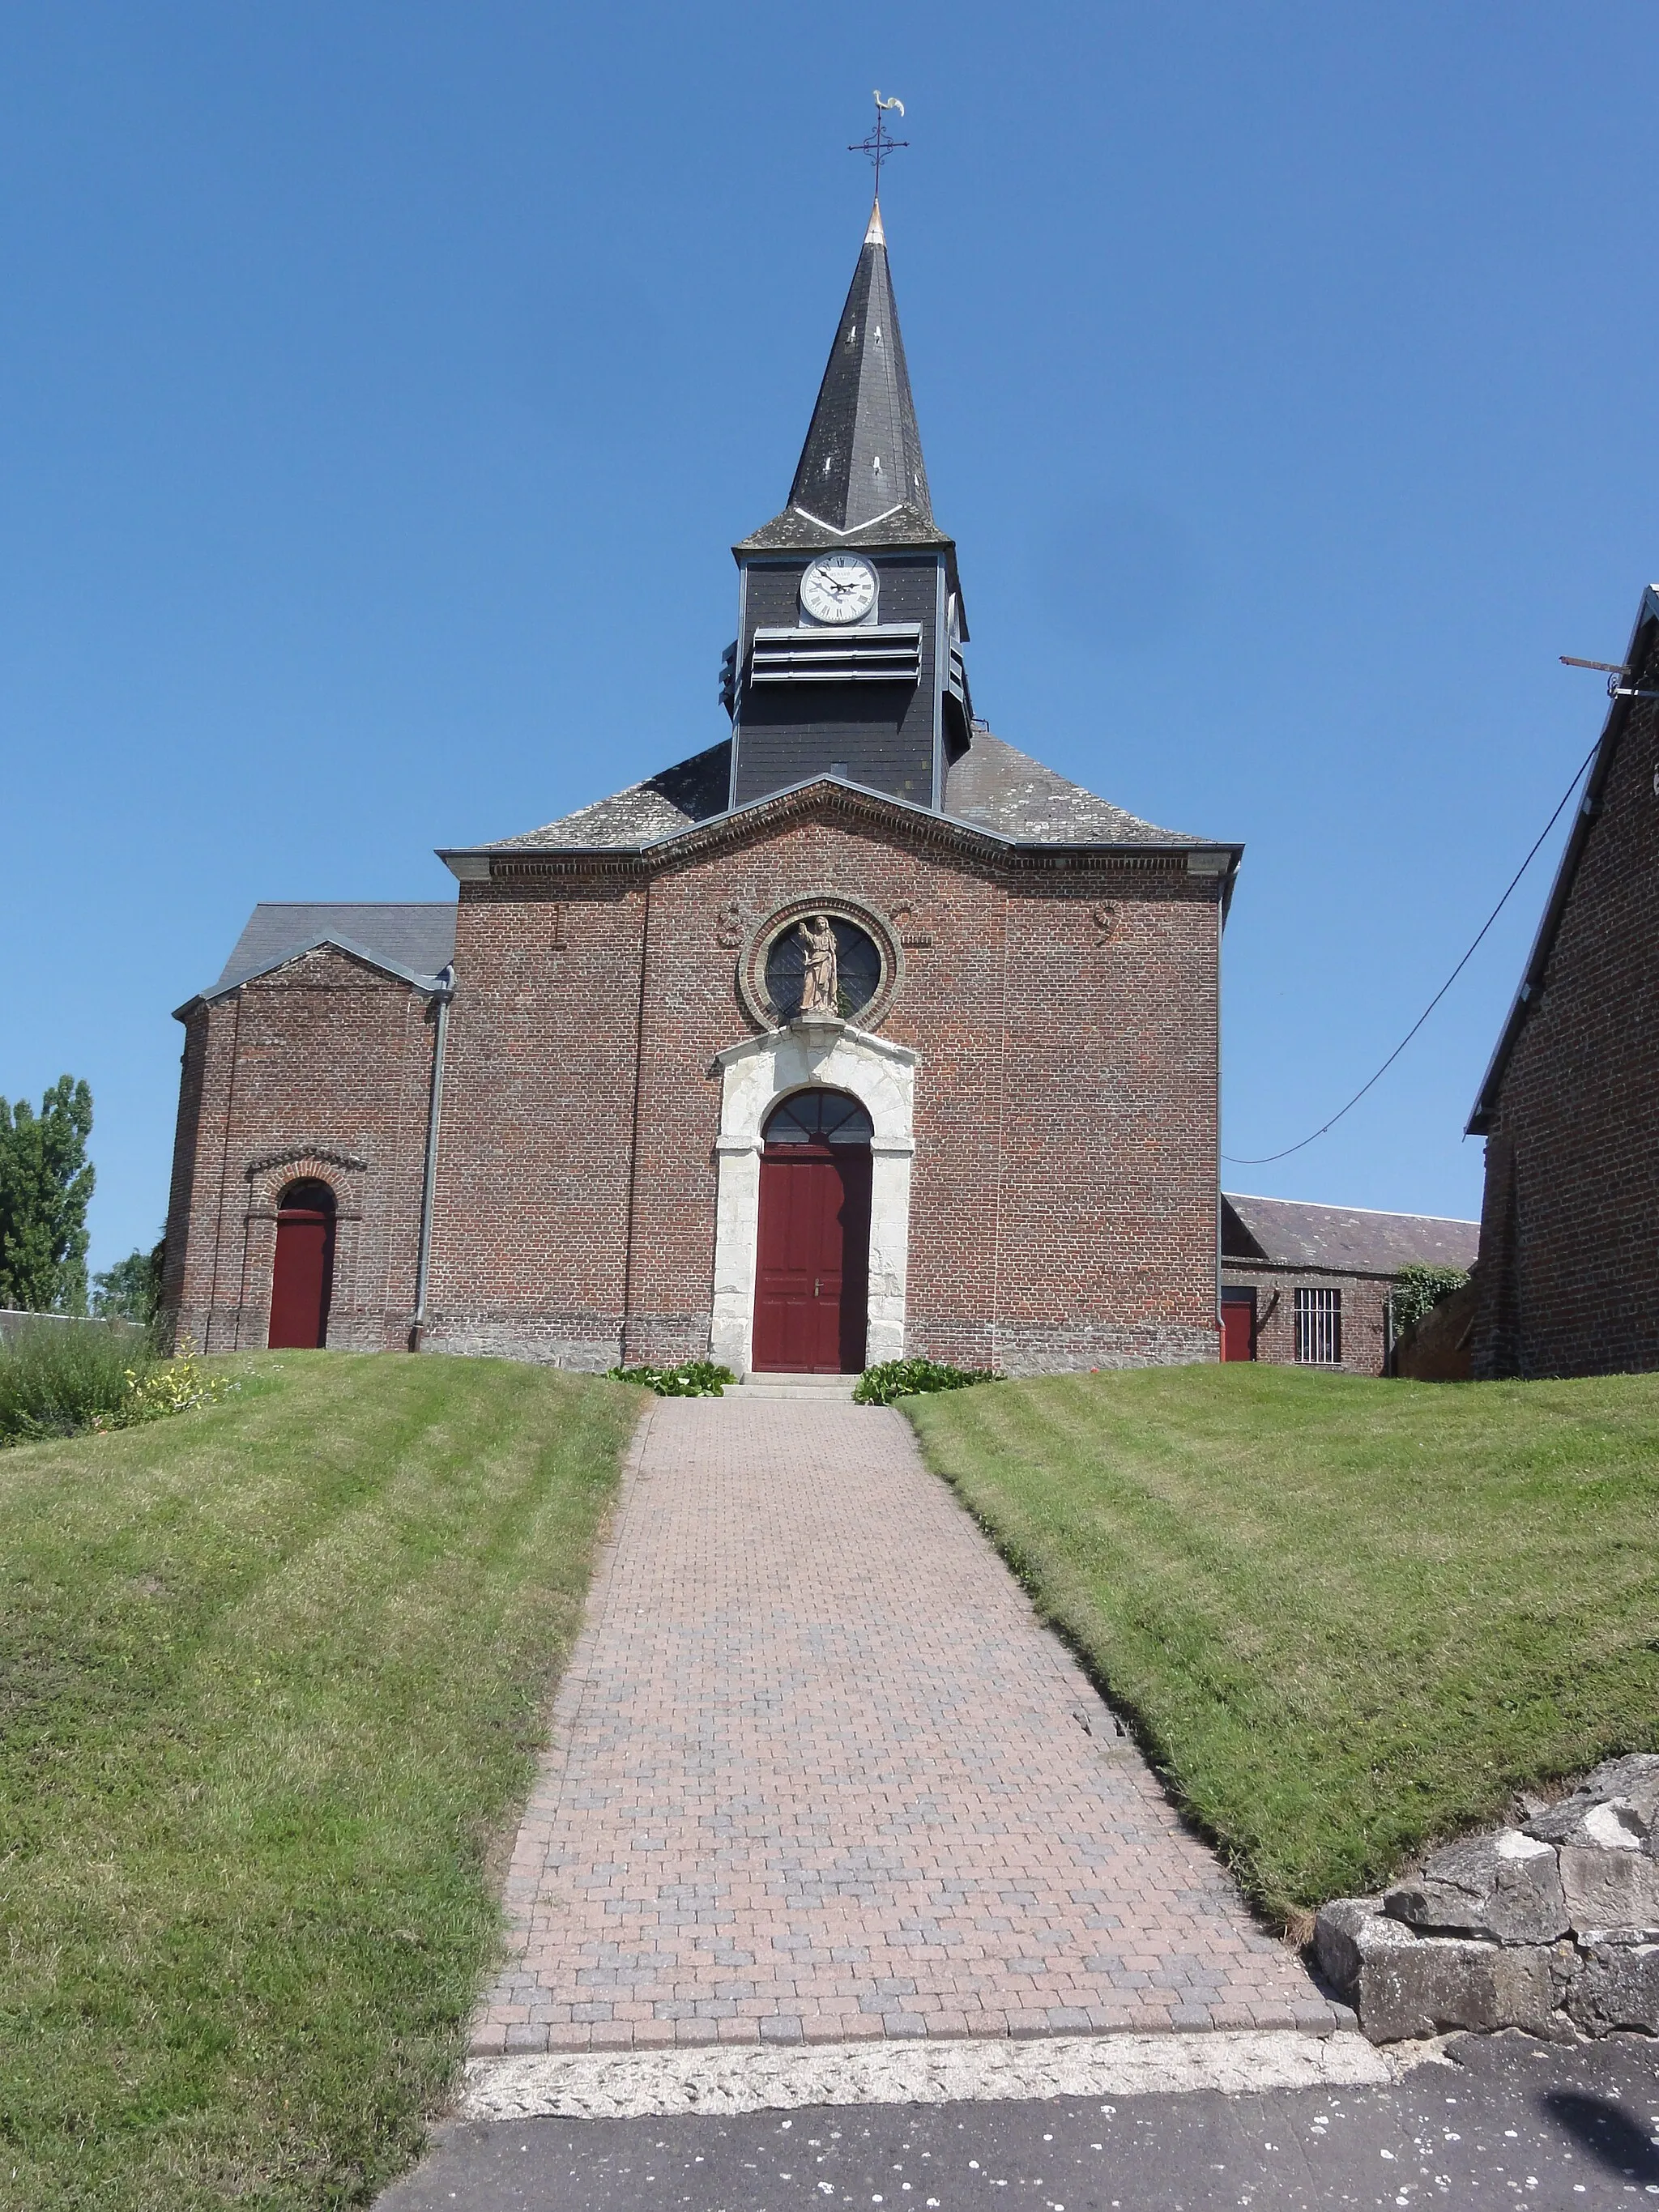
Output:
[[164,1301],[201,1352],[263,1345],[276,1199],[336,1197],[327,1340],[380,1352],[414,1316],[431,1009],[330,949],[186,1022]]

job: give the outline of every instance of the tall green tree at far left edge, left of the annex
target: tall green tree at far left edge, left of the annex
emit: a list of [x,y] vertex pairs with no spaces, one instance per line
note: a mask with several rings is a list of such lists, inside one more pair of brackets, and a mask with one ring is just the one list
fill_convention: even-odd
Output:
[[60,1075],[40,1102],[0,1099],[0,1307],[86,1312],[93,1093]]

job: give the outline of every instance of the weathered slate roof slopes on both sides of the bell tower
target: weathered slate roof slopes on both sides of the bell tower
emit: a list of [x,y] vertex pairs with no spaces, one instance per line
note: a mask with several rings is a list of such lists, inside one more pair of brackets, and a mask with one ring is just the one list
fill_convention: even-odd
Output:
[[[480,852],[630,849],[677,836],[726,814],[732,743],[710,745],[644,783],[580,807],[542,830],[500,838]],[[1210,838],[1159,830],[1097,799],[1042,761],[1015,752],[989,730],[947,770],[945,816],[1018,845],[1164,845],[1210,847]]]

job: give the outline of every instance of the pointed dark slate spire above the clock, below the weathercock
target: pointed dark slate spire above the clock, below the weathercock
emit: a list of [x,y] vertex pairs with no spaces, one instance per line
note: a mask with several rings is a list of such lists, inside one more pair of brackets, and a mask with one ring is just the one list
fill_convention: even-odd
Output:
[[863,529],[898,507],[933,522],[880,201],[869,212],[790,507],[832,531]]

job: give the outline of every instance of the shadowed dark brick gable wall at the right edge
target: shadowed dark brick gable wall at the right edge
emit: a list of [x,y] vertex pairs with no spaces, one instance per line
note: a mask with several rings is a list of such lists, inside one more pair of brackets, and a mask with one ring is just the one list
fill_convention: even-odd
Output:
[[1486,1139],[1475,1376],[1659,1367],[1657,779],[1639,706]]

